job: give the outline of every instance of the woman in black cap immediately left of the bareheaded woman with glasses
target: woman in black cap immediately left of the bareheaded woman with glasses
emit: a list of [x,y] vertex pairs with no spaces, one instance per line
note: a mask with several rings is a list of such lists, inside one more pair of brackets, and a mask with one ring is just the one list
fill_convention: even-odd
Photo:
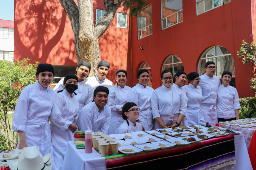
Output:
[[149,80],[148,71],[146,69],[140,69],[137,73],[137,79],[139,83],[129,91],[127,102],[136,103],[140,108],[140,115],[137,122],[142,124],[145,130],[152,130],[154,128],[154,122],[150,99],[154,89],[147,86]]

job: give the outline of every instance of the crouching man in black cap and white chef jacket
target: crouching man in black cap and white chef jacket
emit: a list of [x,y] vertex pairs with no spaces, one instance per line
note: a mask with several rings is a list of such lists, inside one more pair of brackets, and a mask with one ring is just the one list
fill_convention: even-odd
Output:
[[102,131],[109,133],[111,108],[108,103],[109,90],[107,87],[98,86],[93,92],[93,102],[87,104],[79,112],[79,130],[86,131],[88,128],[93,132]]

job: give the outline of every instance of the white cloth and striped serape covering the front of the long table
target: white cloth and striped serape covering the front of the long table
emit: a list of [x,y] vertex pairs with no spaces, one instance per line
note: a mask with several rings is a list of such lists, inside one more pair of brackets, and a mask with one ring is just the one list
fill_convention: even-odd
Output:
[[[236,164],[234,164],[236,163]],[[230,166],[228,166],[230,165]],[[227,167],[226,167],[227,166]],[[176,146],[139,154],[101,157],[93,149],[86,154],[68,142],[63,170],[90,169],[252,169],[243,135],[211,138],[185,146]]]

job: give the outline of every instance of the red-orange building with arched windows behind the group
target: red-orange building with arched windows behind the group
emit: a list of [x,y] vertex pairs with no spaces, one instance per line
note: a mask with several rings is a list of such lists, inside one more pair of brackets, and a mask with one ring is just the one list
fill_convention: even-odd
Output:
[[[254,41],[255,2],[251,0],[148,0],[148,5],[130,17],[120,6],[110,27],[99,40],[102,60],[110,62],[108,79],[117,69],[128,72],[129,86],[138,82],[140,68],[150,71],[148,85],[161,86],[160,74],[170,69],[204,73],[204,64],[214,61],[216,76],[233,73],[231,85],[240,97],[254,96],[249,80],[252,71],[238,60],[241,42]],[[103,0],[93,0],[95,24],[104,15]],[[24,9],[24,10],[23,10]],[[15,0],[14,58],[51,63],[56,81],[74,71],[74,33],[59,1]],[[252,66],[251,69],[253,69]]]

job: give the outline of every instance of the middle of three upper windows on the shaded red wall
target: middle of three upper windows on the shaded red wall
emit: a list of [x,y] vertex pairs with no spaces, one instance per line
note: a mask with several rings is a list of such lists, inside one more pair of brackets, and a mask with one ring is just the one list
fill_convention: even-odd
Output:
[[161,0],[162,29],[183,21],[182,0]]

